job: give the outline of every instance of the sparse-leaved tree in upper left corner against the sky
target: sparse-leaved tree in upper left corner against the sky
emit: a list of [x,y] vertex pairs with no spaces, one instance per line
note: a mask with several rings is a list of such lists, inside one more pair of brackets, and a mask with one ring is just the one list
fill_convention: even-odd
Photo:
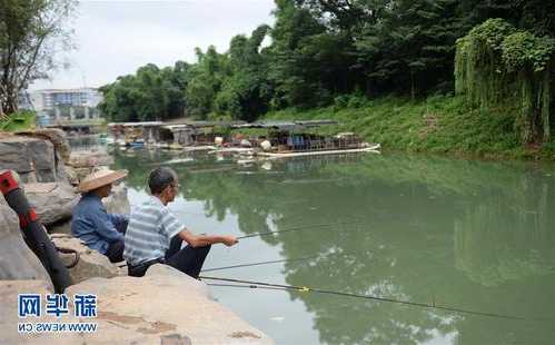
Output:
[[0,115],[18,109],[18,95],[48,77],[57,50],[71,48],[65,27],[73,0],[0,0]]

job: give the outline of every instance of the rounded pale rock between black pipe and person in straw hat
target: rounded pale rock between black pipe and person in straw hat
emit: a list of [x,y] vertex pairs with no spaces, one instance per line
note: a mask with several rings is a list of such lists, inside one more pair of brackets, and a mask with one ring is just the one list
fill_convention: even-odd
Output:
[[63,183],[26,184],[23,188],[43,225],[71,218],[71,208],[79,200],[75,188]]

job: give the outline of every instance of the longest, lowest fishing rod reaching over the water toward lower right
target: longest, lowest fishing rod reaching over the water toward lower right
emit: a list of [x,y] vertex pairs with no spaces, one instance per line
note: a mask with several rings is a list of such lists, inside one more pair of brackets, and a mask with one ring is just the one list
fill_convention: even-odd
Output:
[[300,293],[318,293],[318,294],[326,294],[326,295],[336,295],[336,296],[344,296],[344,297],[365,298],[365,299],[373,299],[373,300],[378,300],[378,302],[396,303],[396,304],[417,306],[417,307],[424,307],[424,308],[455,312],[455,313],[460,313],[460,314],[479,315],[479,316],[496,317],[496,318],[508,318],[508,319],[526,319],[526,317],[523,317],[523,316],[513,316],[513,315],[505,315],[505,314],[497,314],[497,313],[487,313],[487,312],[479,312],[479,310],[463,309],[463,308],[457,308],[457,307],[436,305],[435,303],[434,304],[426,304],[426,303],[418,303],[418,302],[410,302],[410,300],[400,300],[400,299],[395,299],[395,298],[378,297],[378,296],[373,296],[373,295],[343,293],[343,292],[328,290],[328,289],[321,289],[321,288],[313,288],[313,287],[307,287],[307,286],[271,284],[271,283],[264,283],[264,282],[241,280],[241,279],[232,279],[232,278],[211,277],[211,276],[200,276],[199,278],[206,279],[206,280],[246,284],[246,285],[236,285],[236,284],[216,284],[215,285],[214,283],[209,284],[209,285],[215,285],[215,286],[241,287],[241,288],[261,288],[261,289],[274,289],[274,290],[296,290],[296,292],[300,292]]

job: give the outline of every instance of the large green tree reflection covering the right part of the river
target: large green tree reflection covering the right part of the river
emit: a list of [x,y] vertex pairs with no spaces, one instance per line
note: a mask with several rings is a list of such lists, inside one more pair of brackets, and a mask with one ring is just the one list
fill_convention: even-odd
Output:
[[[286,258],[317,255],[288,262],[288,284],[553,316],[554,219],[547,211],[555,206],[554,186],[539,178],[542,170],[366,156],[272,162],[269,172],[283,175],[256,168],[252,175],[178,171],[186,198],[204,200],[218,218],[236,214],[247,234],[267,230],[268,219],[276,229],[361,220],[264,237],[280,244]],[[330,344],[417,344],[433,332],[464,344],[534,343],[552,332],[542,323],[354,298],[296,293],[291,298],[314,313],[321,342]]]

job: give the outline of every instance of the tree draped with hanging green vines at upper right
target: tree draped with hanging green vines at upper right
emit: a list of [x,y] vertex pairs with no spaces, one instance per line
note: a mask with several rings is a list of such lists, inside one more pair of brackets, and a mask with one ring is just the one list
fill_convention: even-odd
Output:
[[516,102],[523,142],[549,141],[555,40],[489,19],[457,41],[456,89],[482,107]]

